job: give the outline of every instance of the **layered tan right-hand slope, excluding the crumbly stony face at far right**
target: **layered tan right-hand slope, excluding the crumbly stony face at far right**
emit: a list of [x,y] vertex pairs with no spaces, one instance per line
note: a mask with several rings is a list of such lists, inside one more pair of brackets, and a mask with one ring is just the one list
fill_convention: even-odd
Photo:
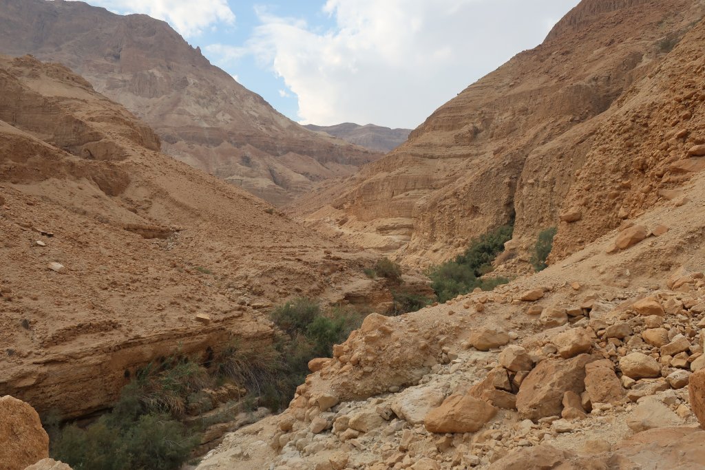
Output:
[[703,12],[693,0],[584,0],[544,44],[441,106],[384,159],[324,183],[291,213],[421,266],[515,218],[513,245],[526,252],[570,209],[571,188],[600,197],[574,185],[597,132],[609,132],[619,98],[658,70]]

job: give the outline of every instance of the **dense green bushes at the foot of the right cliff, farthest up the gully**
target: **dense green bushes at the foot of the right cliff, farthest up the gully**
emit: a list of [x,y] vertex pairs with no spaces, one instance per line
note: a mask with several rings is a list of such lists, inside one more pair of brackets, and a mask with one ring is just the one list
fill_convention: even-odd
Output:
[[478,238],[472,239],[465,252],[439,266],[429,269],[431,287],[439,302],[447,302],[458,295],[467,294],[476,287],[492,290],[497,285],[508,283],[506,278],[482,279],[492,271],[492,261],[504,251],[504,244],[511,240],[513,225],[501,225]]

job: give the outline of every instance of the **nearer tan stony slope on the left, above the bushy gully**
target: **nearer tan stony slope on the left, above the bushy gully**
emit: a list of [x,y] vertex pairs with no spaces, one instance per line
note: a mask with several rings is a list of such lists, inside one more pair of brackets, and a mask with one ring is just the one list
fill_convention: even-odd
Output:
[[0,56],[0,234],[0,395],[65,418],[177,347],[269,342],[272,302],[391,300],[362,274],[372,255],[161,154],[121,105],[29,56]]

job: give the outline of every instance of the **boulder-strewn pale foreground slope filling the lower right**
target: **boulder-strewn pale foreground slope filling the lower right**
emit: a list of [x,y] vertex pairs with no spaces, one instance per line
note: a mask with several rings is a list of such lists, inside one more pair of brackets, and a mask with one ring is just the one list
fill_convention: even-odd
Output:
[[703,183],[541,273],[368,316],[198,468],[705,469]]

